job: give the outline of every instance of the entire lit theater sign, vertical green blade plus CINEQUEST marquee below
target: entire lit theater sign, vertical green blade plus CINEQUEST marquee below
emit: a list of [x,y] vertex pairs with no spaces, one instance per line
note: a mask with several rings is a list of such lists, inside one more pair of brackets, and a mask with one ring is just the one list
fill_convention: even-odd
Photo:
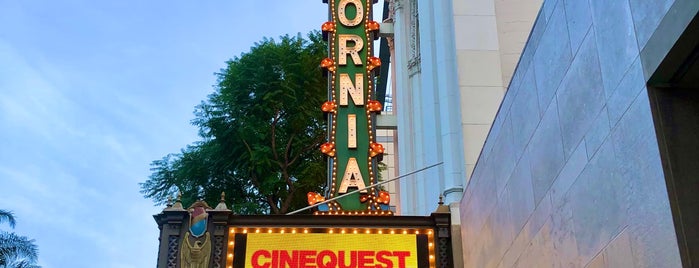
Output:
[[[375,0],[323,0],[328,57],[319,59],[330,80],[328,191],[308,193],[313,215],[235,215],[225,197],[215,208],[178,197],[154,216],[160,228],[158,268],[403,268],[453,267],[450,214],[441,201],[429,216],[396,216],[377,183],[373,57],[380,24]],[[320,112],[320,111],[319,111]],[[460,254],[458,254],[460,257]]]

